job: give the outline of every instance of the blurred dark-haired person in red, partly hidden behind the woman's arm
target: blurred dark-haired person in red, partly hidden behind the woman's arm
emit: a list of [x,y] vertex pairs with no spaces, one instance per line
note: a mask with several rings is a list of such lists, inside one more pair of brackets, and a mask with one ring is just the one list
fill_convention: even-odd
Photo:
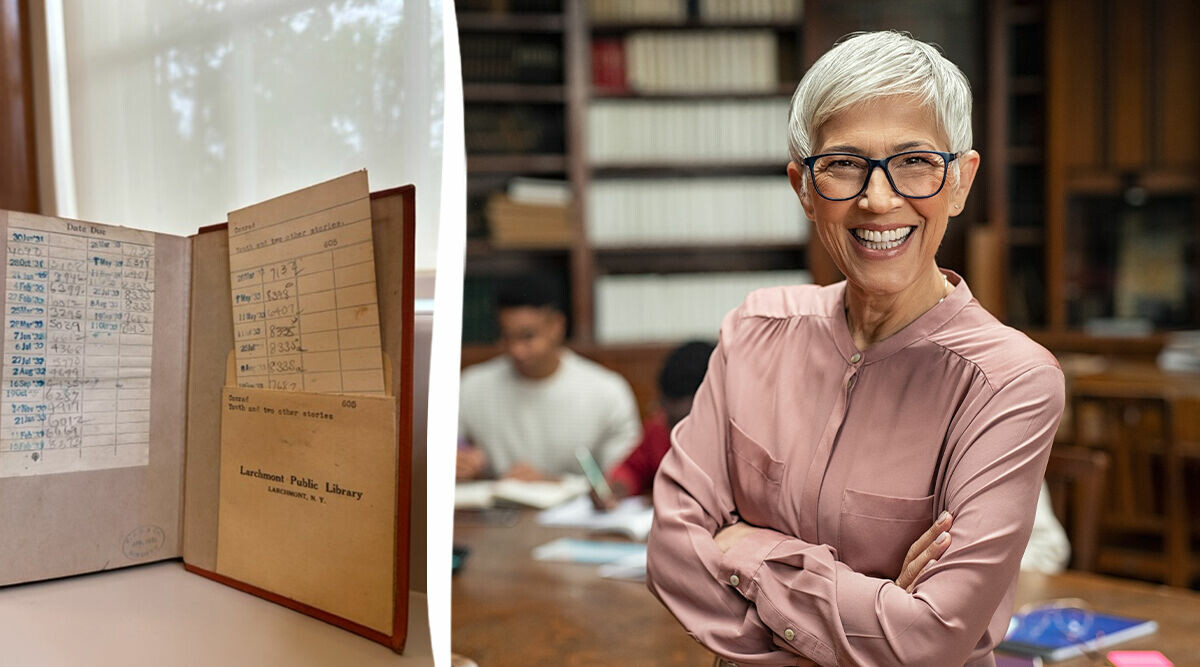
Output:
[[667,355],[659,372],[660,410],[642,425],[642,441],[608,473],[616,498],[648,493],[654,473],[671,449],[671,429],[691,411],[691,399],[704,380],[713,343],[691,341]]

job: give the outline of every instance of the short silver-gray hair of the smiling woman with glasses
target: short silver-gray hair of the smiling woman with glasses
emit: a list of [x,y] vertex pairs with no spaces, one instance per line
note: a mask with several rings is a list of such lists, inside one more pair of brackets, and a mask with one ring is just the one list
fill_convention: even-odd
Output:
[[912,95],[934,112],[950,152],[971,150],[971,84],[931,44],[906,32],[854,32],[804,74],[787,114],[792,161],[812,151],[816,131],[838,112],[893,95]]

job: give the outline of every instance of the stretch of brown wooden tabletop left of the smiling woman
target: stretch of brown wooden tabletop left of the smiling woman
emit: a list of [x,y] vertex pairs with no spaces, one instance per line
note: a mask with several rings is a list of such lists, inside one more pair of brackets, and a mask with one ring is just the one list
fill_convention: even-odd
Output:
[[534,560],[529,552],[583,530],[512,525],[455,513],[455,545],[470,549],[451,583],[450,649],[480,667],[702,665],[691,639],[641,582],[605,579],[595,565]]

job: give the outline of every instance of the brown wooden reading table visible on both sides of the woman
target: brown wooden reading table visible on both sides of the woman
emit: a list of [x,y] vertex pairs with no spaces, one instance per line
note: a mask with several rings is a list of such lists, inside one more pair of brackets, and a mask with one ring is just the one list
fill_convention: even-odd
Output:
[[[481,667],[712,665],[713,654],[684,632],[643,583],[601,578],[594,565],[530,555],[534,547],[564,536],[598,539],[584,530],[539,525],[533,511],[455,513],[455,545],[469,549],[452,582],[455,653]],[[1157,620],[1157,633],[1120,648],[1159,650],[1176,667],[1200,666],[1200,594],[1084,572],[1021,575],[1018,607],[1066,597]]]

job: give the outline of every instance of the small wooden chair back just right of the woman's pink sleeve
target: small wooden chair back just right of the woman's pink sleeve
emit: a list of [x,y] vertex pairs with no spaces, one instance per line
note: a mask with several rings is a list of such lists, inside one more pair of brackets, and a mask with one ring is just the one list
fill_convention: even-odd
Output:
[[1054,513],[1070,539],[1070,567],[1096,570],[1096,548],[1104,510],[1109,455],[1100,450],[1056,445],[1046,463]]

